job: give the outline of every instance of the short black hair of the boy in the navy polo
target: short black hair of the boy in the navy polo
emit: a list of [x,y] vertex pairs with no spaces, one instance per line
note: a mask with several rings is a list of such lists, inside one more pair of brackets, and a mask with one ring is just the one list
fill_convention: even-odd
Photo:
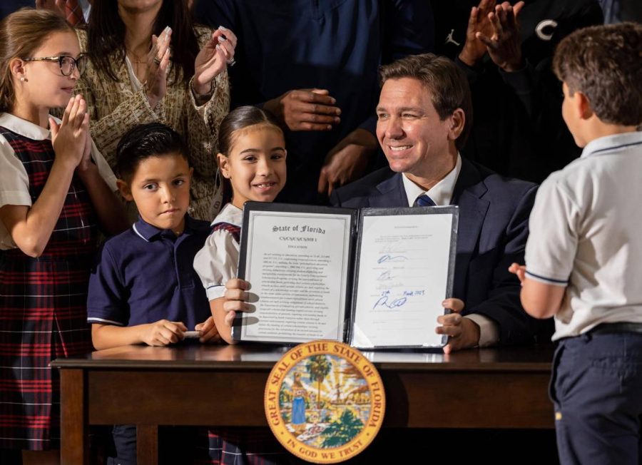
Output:
[[181,155],[188,164],[188,149],[180,134],[161,123],[134,126],[116,147],[116,175],[126,179],[136,173],[141,161],[163,155]]

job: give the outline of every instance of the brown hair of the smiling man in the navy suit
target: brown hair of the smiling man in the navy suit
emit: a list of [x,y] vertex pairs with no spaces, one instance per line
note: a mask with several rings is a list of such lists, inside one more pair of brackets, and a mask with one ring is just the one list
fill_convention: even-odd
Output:
[[388,79],[417,79],[430,92],[432,105],[442,120],[462,108],[464,130],[455,145],[458,149],[464,147],[472,127],[472,99],[468,79],[454,61],[434,53],[409,55],[379,68],[379,78],[382,87]]

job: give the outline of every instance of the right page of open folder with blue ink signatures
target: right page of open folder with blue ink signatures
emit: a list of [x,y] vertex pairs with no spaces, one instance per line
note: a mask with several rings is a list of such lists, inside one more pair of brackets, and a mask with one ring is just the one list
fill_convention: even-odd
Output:
[[351,343],[442,347],[435,328],[452,292],[457,207],[395,211],[362,212]]

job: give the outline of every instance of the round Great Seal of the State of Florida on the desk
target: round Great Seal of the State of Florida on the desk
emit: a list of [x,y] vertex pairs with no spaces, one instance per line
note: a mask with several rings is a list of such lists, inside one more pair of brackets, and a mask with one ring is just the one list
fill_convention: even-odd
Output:
[[300,459],[336,464],[364,450],[385,412],[377,369],[341,342],[290,349],[265,385],[265,415],[277,440]]

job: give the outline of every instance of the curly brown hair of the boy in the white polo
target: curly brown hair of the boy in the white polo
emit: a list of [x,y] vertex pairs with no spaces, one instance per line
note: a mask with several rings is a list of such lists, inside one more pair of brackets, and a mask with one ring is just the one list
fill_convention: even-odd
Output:
[[642,123],[642,25],[610,24],[579,29],[555,50],[553,70],[581,92],[604,123]]

